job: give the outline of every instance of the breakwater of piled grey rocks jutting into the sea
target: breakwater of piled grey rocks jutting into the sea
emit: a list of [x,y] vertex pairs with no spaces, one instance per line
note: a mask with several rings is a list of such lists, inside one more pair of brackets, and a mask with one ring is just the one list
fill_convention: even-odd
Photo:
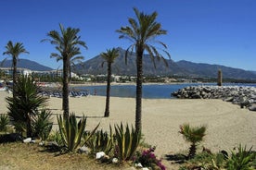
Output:
[[174,91],[179,99],[222,99],[256,111],[256,88],[249,86],[189,86]]

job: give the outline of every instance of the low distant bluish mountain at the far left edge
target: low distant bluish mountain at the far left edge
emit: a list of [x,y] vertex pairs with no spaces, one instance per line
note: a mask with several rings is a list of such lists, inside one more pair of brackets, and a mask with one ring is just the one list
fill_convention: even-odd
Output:
[[[0,62],[1,64],[2,62]],[[11,60],[6,60],[4,63],[2,63],[1,67],[12,67],[12,61]],[[36,63],[34,61],[28,60],[28,59],[19,59],[17,67],[22,67],[22,68],[27,68],[31,70],[36,70],[36,71],[49,71],[53,70],[51,67],[45,67],[43,65],[40,65],[39,63]]]

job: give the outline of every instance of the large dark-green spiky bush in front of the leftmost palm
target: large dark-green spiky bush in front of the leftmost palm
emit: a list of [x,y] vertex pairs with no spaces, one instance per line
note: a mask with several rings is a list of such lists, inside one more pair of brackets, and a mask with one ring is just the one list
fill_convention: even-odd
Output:
[[27,132],[32,137],[32,120],[41,107],[45,107],[47,99],[38,94],[38,87],[30,77],[19,77],[14,87],[15,97],[6,97],[10,121],[19,132]]

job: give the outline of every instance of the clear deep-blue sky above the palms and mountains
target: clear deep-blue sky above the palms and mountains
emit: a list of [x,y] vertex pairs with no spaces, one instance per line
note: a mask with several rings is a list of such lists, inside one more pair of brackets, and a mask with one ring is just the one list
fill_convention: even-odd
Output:
[[[82,49],[88,60],[112,47],[126,49],[115,31],[134,18],[133,7],[147,14],[157,11],[157,21],[168,34],[160,41],[168,45],[174,61],[187,60],[256,70],[255,0],[1,0],[0,60],[8,41],[23,42],[30,59],[57,68],[47,38],[50,30],[79,28]],[[2,59],[1,59],[2,58]]]

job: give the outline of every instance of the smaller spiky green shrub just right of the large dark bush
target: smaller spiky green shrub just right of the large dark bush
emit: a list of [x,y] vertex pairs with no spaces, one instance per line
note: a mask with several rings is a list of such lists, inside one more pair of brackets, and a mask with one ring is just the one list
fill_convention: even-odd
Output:
[[45,109],[39,112],[32,121],[33,136],[39,137],[41,140],[46,140],[53,127],[53,122],[50,119],[50,111]]

